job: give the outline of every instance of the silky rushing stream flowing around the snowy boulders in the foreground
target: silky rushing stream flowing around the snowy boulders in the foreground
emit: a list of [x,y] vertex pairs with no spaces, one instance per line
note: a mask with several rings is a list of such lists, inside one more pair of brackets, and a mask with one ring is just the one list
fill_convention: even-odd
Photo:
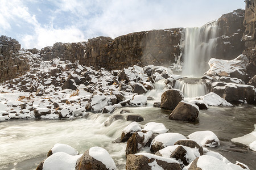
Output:
[[[122,109],[144,117],[147,122],[162,122],[169,132],[189,135],[194,131],[212,130],[220,139],[221,146],[209,148],[226,156],[230,162],[236,160],[255,169],[256,153],[248,147],[231,142],[230,139],[248,134],[254,130],[256,108],[251,105],[237,107],[210,107],[200,111],[199,119],[189,123],[169,120],[170,112],[153,107],[119,108],[113,114],[120,114]],[[0,169],[35,169],[46,158],[47,152],[55,143],[65,143],[76,148],[80,153],[93,146],[105,148],[118,169],[125,169],[126,143],[112,143],[121,136],[121,131],[130,122],[114,121],[105,127],[104,121],[110,114],[91,114],[87,118],[72,121],[54,120],[14,120],[0,122]]]

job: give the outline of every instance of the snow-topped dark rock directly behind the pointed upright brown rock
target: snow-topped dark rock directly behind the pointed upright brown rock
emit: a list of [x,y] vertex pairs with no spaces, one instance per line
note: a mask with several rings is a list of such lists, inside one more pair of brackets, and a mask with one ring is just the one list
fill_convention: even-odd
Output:
[[137,131],[142,131],[141,125],[138,122],[131,122],[125,129],[122,130],[121,142],[126,142]]

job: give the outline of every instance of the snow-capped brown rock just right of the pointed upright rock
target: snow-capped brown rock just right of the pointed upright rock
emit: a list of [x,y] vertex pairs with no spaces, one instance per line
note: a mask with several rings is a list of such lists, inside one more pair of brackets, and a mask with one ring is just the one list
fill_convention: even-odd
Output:
[[184,135],[179,133],[159,134],[151,142],[150,151],[155,153],[159,150],[162,150],[162,148],[164,147],[174,145],[175,142],[180,141],[182,139],[187,139],[187,138],[185,138]]

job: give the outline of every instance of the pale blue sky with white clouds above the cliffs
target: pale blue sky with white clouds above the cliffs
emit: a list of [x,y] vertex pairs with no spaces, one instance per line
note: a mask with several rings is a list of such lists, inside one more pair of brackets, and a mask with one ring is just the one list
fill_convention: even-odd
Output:
[[22,48],[87,41],[131,32],[201,27],[243,0],[0,0],[0,35]]

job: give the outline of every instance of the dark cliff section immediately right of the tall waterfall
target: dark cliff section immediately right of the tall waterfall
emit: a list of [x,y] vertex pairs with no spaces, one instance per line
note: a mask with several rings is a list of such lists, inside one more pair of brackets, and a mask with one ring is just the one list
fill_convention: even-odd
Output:
[[245,42],[242,41],[245,27],[243,19],[245,10],[238,9],[224,14],[218,19],[219,38],[217,39],[216,57],[234,59],[243,52]]

